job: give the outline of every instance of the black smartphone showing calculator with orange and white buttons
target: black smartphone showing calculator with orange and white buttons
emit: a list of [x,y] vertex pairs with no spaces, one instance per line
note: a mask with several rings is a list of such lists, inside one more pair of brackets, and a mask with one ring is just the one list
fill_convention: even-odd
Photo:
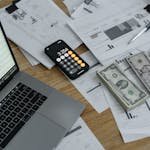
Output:
[[89,65],[63,40],[46,47],[45,53],[71,80],[89,70]]

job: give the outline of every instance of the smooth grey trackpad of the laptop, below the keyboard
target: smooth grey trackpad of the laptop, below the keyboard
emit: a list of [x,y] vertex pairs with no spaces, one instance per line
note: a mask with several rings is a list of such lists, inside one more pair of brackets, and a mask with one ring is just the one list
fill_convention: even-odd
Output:
[[65,129],[35,114],[5,150],[51,150],[64,136]]

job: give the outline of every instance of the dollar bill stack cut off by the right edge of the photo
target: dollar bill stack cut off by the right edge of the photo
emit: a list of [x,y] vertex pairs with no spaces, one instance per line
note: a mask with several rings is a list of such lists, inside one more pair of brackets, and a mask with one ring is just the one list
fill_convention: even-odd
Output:
[[137,77],[150,92],[150,60],[144,52],[126,59]]

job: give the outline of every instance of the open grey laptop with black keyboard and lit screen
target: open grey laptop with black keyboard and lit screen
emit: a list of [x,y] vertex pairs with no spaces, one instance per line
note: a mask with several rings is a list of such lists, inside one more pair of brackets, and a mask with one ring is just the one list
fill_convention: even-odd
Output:
[[0,150],[52,150],[83,110],[81,103],[19,71],[0,24]]

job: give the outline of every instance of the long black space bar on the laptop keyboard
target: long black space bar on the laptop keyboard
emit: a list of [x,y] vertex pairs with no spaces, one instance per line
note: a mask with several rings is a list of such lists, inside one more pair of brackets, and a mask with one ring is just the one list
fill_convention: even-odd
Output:
[[9,141],[16,135],[16,133],[23,127],[25,123],[23,121],[14,128],[14,130],[5,138],[5,140],[0,144],[0,147],[5,148]]

